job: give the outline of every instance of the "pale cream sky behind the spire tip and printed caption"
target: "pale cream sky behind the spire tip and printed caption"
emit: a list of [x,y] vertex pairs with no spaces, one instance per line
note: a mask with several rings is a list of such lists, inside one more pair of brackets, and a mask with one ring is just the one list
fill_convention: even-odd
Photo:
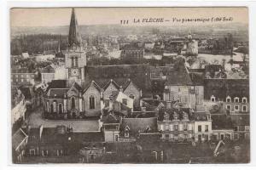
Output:
[[[244,7],[236,8],[75,8],[79,25],[120,24],[120,20],[129,20],[129,25],[181,25],[188,22],[172,22],[177,19],[212,17],[232,17],[229,21],[214,21],[218,24],[238,22],[247,24],[248,11]],[[10,9],[11,26],[68,26],[71,8],[12,8]],[[145,18],[164,18],[164,23],[143,23]],[[133,20],[140,20],[134,23]],[[190,24],[191,22],[189,22]],[[195,22],[193,22],[195,24]],[[196,22],[212,24],[212,22]]]

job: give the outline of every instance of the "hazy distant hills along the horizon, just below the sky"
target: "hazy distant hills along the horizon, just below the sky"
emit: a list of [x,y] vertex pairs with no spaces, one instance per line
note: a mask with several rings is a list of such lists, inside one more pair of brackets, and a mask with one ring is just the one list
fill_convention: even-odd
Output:
[[[121,26],[121,25],[93,25],[80,26],[82,35],[126,35],[153,33],[157,28],[160,32],[170,35],[185,36],[191,31],[196,37],[223,37],[227,33],[233,35],[236,41],[248,41],[247,25],[232,23],[229,25],[205,25],[205,26]],[[68,34],[68,26],[47,26],[47,27],[12,27],[11,36],[20,34]]]

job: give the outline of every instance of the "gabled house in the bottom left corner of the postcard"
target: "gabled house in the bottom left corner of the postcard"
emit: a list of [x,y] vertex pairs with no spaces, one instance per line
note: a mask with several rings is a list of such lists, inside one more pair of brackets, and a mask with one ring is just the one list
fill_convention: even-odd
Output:
[[27,134],[19,128],[12,136],[13,162],[20,163],[23,161],[26,151]]

